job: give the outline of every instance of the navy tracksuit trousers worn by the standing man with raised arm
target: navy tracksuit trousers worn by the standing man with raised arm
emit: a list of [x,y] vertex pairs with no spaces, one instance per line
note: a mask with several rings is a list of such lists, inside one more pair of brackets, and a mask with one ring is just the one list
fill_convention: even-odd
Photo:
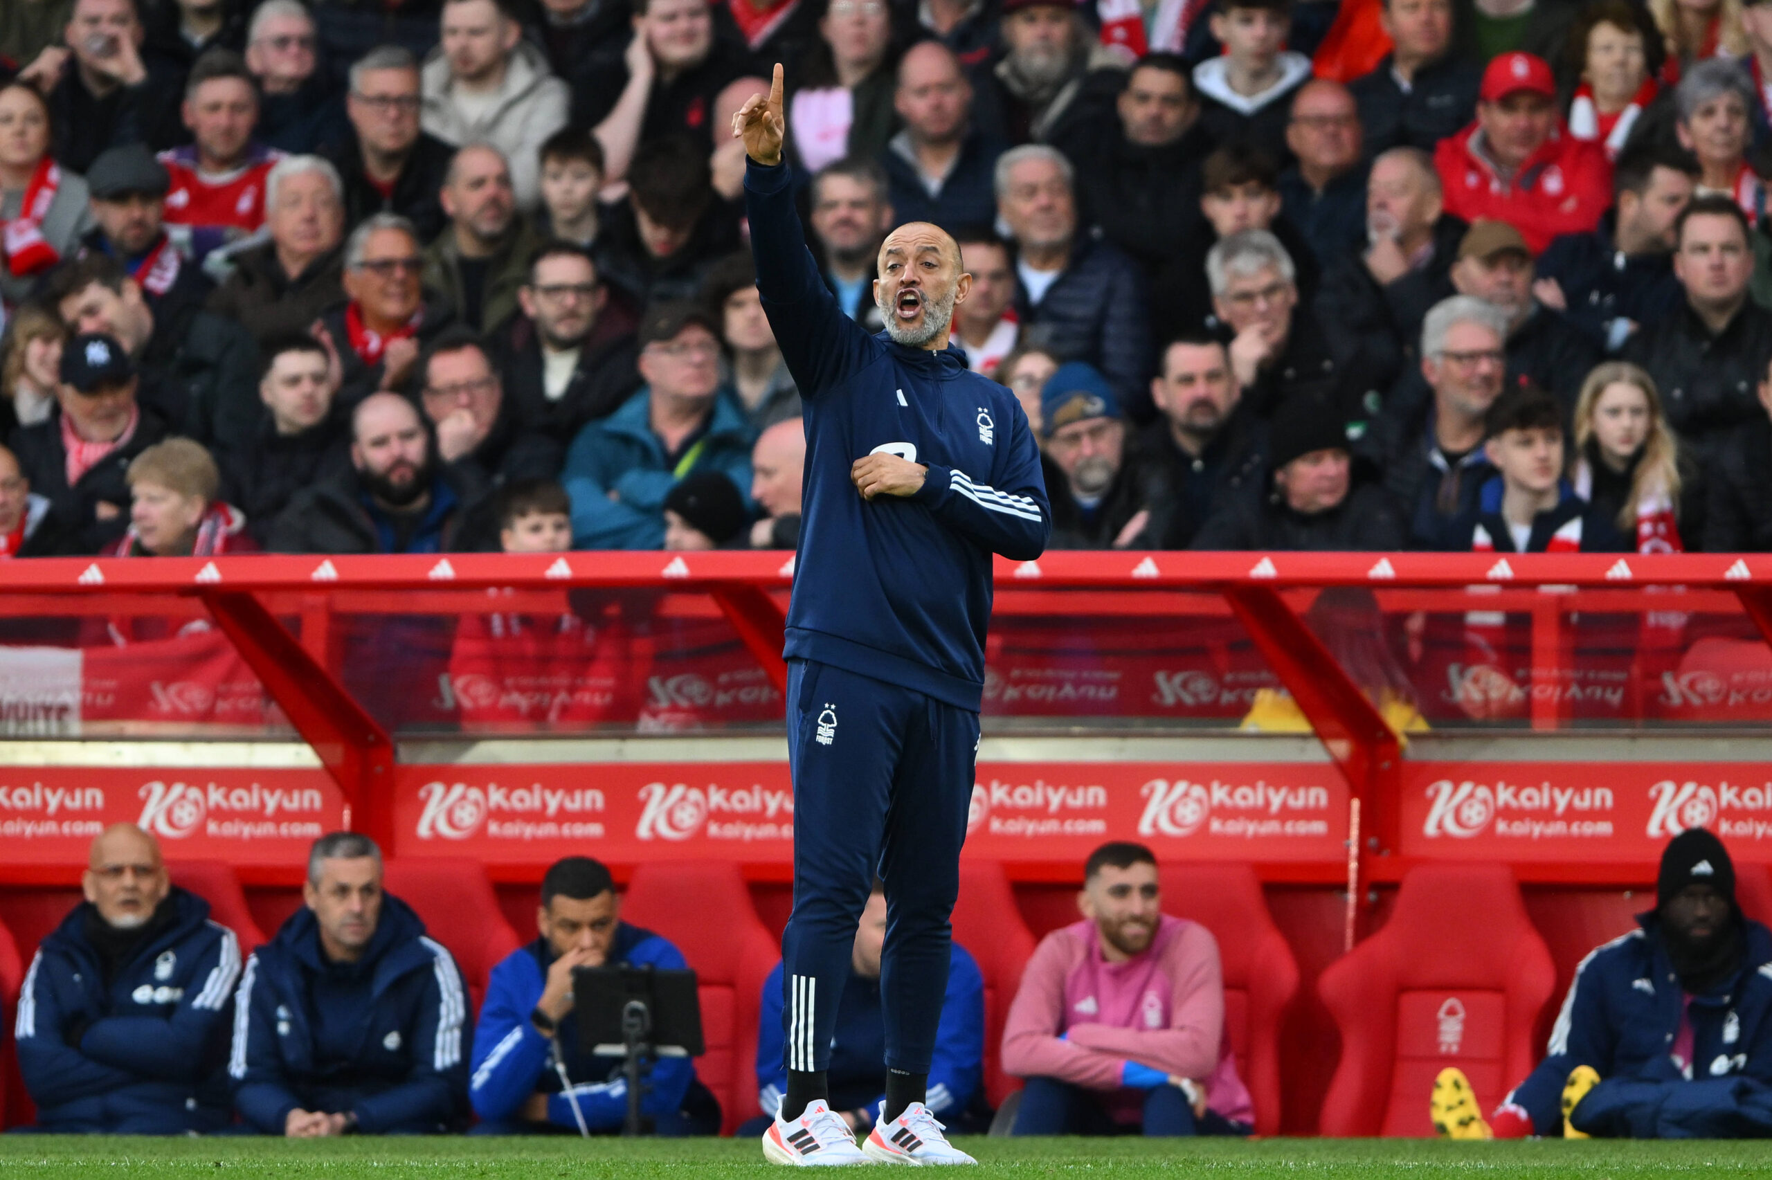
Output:
[[781,934],[790,1070],[824,1070],[874,873],[886,884],[886,1065],[927,1074],[948,990],[978,714],[792,661],[794,912]]

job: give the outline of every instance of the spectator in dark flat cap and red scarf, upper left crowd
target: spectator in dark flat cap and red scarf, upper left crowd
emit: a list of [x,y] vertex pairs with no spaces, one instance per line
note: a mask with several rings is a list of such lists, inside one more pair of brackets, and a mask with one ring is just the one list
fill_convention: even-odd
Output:
[[92,220],[80,253],[103,253],[122,262],[124,273],[142,287],[156,315],[179,319],[186,307],[198,308],[214,282],[193,266],[181,243],[167,232],[167,167],[142,144],[110,147],[92,161],[87,190]]

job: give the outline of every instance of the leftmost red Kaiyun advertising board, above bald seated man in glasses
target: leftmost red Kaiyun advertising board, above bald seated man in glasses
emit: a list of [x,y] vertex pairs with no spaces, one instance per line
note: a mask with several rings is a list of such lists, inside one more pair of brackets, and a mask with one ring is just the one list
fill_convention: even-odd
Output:
[[170,859],[303,865],[346,815],[319,769],[0,767],[9,863],[83,865],[110,824],[140,824]]

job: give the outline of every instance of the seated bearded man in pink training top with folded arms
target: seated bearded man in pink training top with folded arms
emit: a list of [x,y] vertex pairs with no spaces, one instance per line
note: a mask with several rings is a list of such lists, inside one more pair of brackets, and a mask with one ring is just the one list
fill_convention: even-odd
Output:
[[1162,914],[1157,858],[1095,849],[1077,907],[1083,921],[1040,941],[1008,1010],[1003,1068],[1028,1079],[1014,1134],[1249,1134],[1217,941]]

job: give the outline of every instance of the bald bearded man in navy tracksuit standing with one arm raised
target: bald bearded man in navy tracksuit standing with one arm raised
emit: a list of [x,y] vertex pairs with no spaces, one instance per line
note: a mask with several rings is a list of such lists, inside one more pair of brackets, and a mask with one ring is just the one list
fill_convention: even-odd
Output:
[[[992,555],[1040,556],[1053,512],[1021,404],[948,347],[971,289],[925,221],[879,252],[868,335],[826,289],[781,163],[781,67],[734,120],[757,287],[799,386],[806,477],[787,617],[794,912],[781,935],[787,1091],[778,1164],[969,1164],[929,1111],[950,914],[971,804]],[[829,1106],[831,1038],[879,875],[886,1109],[856,1148]]]

